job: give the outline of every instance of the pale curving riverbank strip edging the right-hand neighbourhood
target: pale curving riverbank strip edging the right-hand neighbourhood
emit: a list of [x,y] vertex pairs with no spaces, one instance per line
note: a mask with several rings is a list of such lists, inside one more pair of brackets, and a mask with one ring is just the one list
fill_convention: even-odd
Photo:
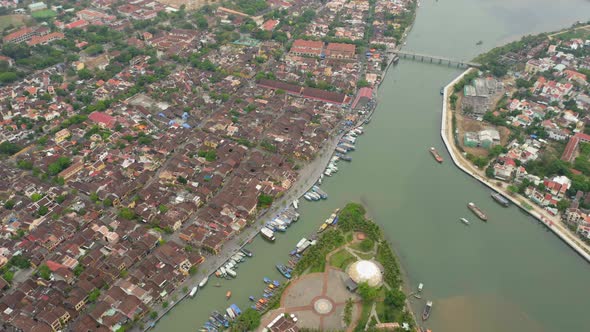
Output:
[[[441,120],[441,137],[445,144],[453,163],[463,172],[467,173],[472,178],[478,180],[488,188],[502,193],[504,197],[509,199],[515,206],[527,212],[529,215],[534,217],[543,223],[549,230],[556,234],[561,240],[569,245],[575,252],[577,252],[582,258],[590,262],[590,247],[585,243],[576,238],[574,234],[561,224],[559,217],[552,216],[545,210],[534,205],[534,203],[528,202],[528,200],[518,194],[513,194],[505,188],[504,184],[500,182],[500,186],[496,183],[492,183],[490,179],[485,177],[485,174],[479,169],[474,168],[473,165],[463,156],[461,151],[455,145],[455,133],[453,132],[453,110],[450,107],[450,95],[452,94],[454,85],[460,81],[465,75],[470,73],[473,68],[467,69],[461,75],[456,77],[443,91],[443,103],[442,103],[442,120]],[[514,195],[514,196],[513,196]]]

